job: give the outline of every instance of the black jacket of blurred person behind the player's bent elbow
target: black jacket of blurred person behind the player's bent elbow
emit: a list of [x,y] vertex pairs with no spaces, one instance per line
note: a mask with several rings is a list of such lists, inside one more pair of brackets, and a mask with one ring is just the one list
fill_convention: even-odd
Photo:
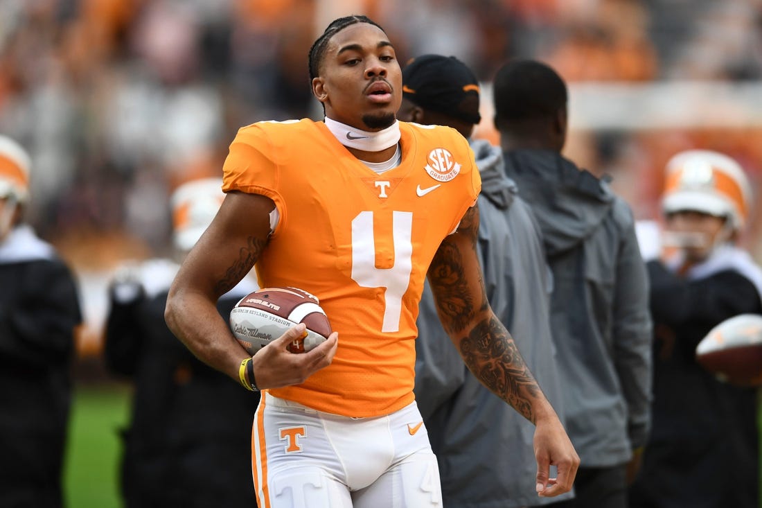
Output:
[[[126,506],[256,506],[251,424],[259,394],[197,360],[165,323],[167,290],[152,292],[112,297],[107,319],[107,365],[135,384],[124,432]],[[247,292],[220,298],[219,313],[227,320]]]

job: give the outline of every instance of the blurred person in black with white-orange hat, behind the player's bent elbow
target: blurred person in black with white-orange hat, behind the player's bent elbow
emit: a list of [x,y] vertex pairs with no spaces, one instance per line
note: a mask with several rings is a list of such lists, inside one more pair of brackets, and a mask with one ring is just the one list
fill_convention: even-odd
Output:
[[[221,178],[197,178],[178,186],[170,199],[176,259],[125,263],[110,281],[104,357],[112,373],[134,383],[120,464],[126,508],[256,505],[241,441],[251,435],[258,394],[248,397],[200,362],[164,320],[178,262],[219,210],[221,185]],[[227,317],[256,288],[243,278],[219,298],[219,313]]]

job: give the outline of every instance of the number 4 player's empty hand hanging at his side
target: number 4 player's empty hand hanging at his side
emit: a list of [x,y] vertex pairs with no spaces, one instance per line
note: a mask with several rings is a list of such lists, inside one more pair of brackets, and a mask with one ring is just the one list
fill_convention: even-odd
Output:
[[[555,497],[571,490],[579,468],[579,455],[571,445],[558,417],[538,420],[534,431],[537,461],[537,495]],[[550,477],[550,466],[558,473]]]

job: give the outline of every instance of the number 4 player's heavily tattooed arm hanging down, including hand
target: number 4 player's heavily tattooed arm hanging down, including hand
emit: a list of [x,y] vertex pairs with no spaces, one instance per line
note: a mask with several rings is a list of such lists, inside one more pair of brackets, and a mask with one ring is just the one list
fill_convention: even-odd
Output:
[[[571,489],[579,457],[514,339],[491,310],[476,253],[478,231],[474,206],[437,250],[428,271],[437,311],[473,375],[536,425],[537,492],[557,496]],[[549,478],[550,465],[557,467],[557,478]]]

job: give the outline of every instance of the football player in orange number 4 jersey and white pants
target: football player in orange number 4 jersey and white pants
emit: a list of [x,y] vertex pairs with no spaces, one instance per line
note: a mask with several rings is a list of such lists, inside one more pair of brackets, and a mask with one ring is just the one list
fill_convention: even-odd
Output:
[[[226,199],[181,266],[165,314],[197,356],[265,389],[252,442],[261,506],[440,506],[413,394],[427,276],[466,364],[535,423],[539,495],[567,491],[575,451],[485,297],[468,142],[396,120],[402,71],[369,18],[331,22],[309,51],[309,73],[324,121],[239,130],[224,165]],[[315,294],[335,333],[292,354],[287,343],[304,330],[295,326],[248,356],[213,304],[252,265],[261,287]]]

